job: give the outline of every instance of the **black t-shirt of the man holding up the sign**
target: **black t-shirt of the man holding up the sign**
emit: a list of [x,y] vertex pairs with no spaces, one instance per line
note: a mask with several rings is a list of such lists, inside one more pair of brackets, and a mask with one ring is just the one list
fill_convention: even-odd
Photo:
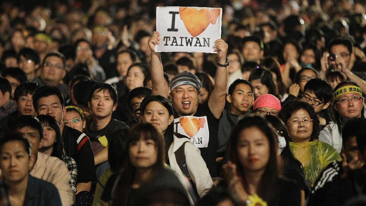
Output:
[[[217,148],[219,147],[217,133],[219,132],[220,119],[217,119],[212,114],[208,104],[198,106],[197,112],[193,116],[207,117],[207,123],[209,128],[209,142],[207,147],[199,148],[199,150],[201,151],[201,156],[203,160],[206,162],[206,166],[210,172],[211,177],[217,177],[218,171],[216,163],[216,151]],[[174,118],[179,118],[175,111],[174,111]]]

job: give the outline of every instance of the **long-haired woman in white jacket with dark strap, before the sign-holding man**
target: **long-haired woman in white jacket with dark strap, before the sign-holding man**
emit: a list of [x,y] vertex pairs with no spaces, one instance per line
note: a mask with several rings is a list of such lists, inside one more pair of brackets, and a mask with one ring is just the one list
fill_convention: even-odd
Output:
[[[142,100],[142,122],[151,123],[165,137],[167,145],[167,161],[177,174],[182,184],[190,194],[191,201],[198,199],[210,190],[213,182],[210,173],[203,161],[198,148],[187,137],[173,135],[173,108],[168,99],[152,95]],[[183,151],[183,152],[182,152]],[[180,168],[181,159],[186,163]],[[187,179],[190,183],[187,184]]]

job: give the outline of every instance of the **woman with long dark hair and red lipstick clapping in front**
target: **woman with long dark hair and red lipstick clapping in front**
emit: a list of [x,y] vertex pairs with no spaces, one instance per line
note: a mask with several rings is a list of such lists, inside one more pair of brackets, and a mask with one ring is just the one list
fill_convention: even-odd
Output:
[[[232,130],[226,183],[241,203],[300,205],[300,189],[280,177],[277,136],[259,116],[241,119]],[[258,198],[259,197],[259,198]]]

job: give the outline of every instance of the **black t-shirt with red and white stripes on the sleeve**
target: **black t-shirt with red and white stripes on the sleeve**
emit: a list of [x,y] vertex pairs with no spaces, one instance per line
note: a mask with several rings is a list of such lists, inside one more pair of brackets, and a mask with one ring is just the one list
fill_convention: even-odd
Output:
[[79,130],[64,125],[62,139],[66,156],[75,159],[78,166],[78,183],[97,180],[89,137]]

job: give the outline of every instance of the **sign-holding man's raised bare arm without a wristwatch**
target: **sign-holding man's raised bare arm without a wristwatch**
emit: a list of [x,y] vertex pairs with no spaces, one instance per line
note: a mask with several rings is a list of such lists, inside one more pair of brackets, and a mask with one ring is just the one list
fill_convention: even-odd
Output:
[[160,33],[154,32],[149,38],[149,47],[151,50],[150,74],[152,83],[152,95],[161,95],[168,98],[167,83],[164,78],[163,65],[161,64],[160,52],[155,52],[155,46],[160,44]]

